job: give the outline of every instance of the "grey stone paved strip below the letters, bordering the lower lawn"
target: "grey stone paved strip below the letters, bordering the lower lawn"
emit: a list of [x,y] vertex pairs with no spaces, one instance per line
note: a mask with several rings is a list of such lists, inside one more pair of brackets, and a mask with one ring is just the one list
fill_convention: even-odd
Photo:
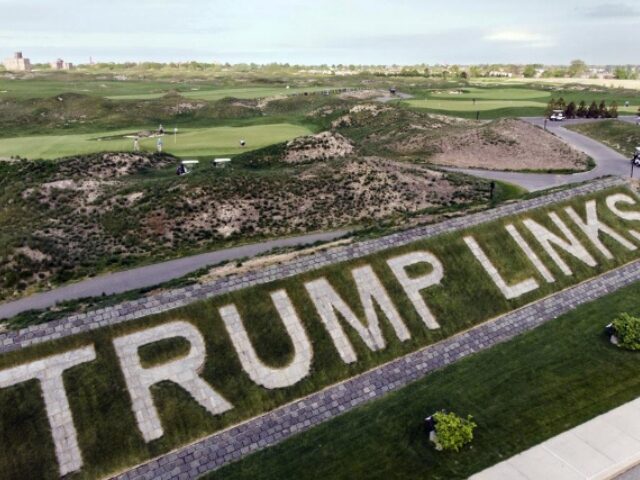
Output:
[[[118,480],[197,478],[204,472],[215,470],[249,453],[279,443],[358,405],[379,398],[389,391],[397,390],[424,377],[429,372],[510,340],[520,333],[573,310],[578,305],[591,302],[637,281],[640,281],[640,260],[531,303],[343,383],[333,385],[307,398],[294,401],[211,435],[114,478]],[[638,417],[638,423],[635,425],[640,432],[640,412]],[[516,480],[516,477],[513,478]],[[551,480],[559,477],[525,478]]]

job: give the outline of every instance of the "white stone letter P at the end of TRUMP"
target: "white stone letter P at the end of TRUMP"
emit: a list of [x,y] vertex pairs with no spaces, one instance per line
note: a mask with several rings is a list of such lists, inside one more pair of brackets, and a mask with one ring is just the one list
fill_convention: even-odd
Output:
[[[433,270],[426,275],[410,278],[409,275],[407,275],[406,268],[417,263],[428,263],[433,267]],[[440,260],[429,252],[412,252],[399,257],[390,258],[387,260],[387,264],[398,279],[398,282],[400,282],[400,285],[402,285],[402,288],[409,297],[409,300],[411,300],[411,303],[413,303],[418,315],[420,315],[420,318],[422,318],[422,321],[427,328],[440,328],[440,325],[420,294],[421,290],[437,285],[442,280],[442,277],[444,276],[444,269],[442,268]]]

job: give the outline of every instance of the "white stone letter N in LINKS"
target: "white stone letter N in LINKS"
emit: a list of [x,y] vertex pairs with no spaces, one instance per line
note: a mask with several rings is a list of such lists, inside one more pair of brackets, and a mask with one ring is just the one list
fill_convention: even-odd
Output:
[[549,254],[555,264],[558,265],[558,268],[560,268],[562,273],[564,273],[565,275],[573,274],[569,266],[553,248],[552,244],[573,255],[578,260],[581,260],[590,267],[595,267],[597,265],[597,262],[594,260],[591,254],[582,246],[575,235],[571,233],[571,230],[567,228],[564,222],[560,220],[560,217],[558,217],[555,212],[551,212],[549,214],[549,217],[551,218],[551,221],[556,225],[556,227],[558,227],[558,229],[562,232],[562,234],[568,239],[568,241],[564,240],[563,238],[559,237],[555,233],[540,225],[538,222],[535,222],[529,218],[524,219],[522,223],[524,223],[524,225],[529,229],[533,236],[536,237],[536,240],[540,242],[542,248],[544,248],[545,252]]

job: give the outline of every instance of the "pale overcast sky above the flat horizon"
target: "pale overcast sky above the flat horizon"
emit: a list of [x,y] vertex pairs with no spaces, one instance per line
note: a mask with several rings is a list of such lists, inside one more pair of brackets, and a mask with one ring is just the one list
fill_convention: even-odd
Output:
[[640,2],[0,0],[0,57],[640,64]]

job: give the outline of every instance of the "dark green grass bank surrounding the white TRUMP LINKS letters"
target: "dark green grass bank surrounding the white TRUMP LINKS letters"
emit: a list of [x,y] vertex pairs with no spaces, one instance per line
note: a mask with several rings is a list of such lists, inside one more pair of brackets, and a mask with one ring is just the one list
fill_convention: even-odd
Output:
[[[583,214],[583,199],[574,200],[571,204],[579,214]],[[554,210],[558,210],[558,207]],[[532,212],[527,214],[527,217],[540,220],[555,230],[549,225],[548,220],[545,220],[545,212],[546,210]],[[566,219],[564,214],[562,217]],[[606,210],[600,209],[600,217],[614,228],[623,227],[623,224]],[[519,221],[516,219],[512,218],[509,221],[515,221],[519,226]],[[508,241],[507,234],[502,228],[504,223],[506,220],[485,224],[472,229],[471,233],[483,245],[488,255],[495,259],[497,268],[509,281],[515,282],[535,276],[535,271],[525,257],[513,242]],[[520,230],[533,244],[531,236],[526,235],[522,228]],[[584,237],[578,236],[587,245]],[[565,256],[574,269],[574,275],[564,277],[550,264],[549,258],[542,255],[543,261],[550,266],[558,281],[554,284],[542,284],[539,290],[512,301],[505,300],[497,292],[496,287],[487,281],[486,273],[469,253],[462,241],[462,235],[455,233],[347,264],[327,267],[299,277],[234,292],[211,301],[194,303],[141,321],[11,353],[0,358],[0,368],[54,351],[71,349],[89,342],[95,343],[98,360],[75,368],[65,376],[86,465],[86,469],[78,475],[78,478],[92,478],[166,452],[177,445],[193,441],[224,426],[317,391],[326,385],[366,371],[392,358],[436,342],[488,318],[635,258],[635,253],[622,250],[607,238],[604,241],[616,255],[616,260],[606,261],[595,254],[599,265],[592,269]],[[424,293],[441,324],[440,330],[429,331],[424,328],[386,265],[387,258],[417,249],[433,252],[444,264],[445,277],[442,284]],[[499,257],[500,255],[503,256]],[[393,336],[390,327],[383,322],[388,346],[383,351],[371,352],[353,331],[348,330],[359,360],[355,364],[345,365],[337,356],[331,340],[324,331],[314,308],[310,305],[303,282],[325,276],[362,318],[362,307],[353,300],[357,298],[357,293],[350,279],[349,268],[365,263],[371,264],[378,272],[387,291],[402,312],[412,332],[412,338],[400,343]],[[418,271],[414,272],[414,274],[418,273]],[[268,296],[270,292],[279,288],[286,288],[296,306],[307,332],[313,339],[315,356],[312,373],[303,381],[287,389],[268,391],[257,387],[242,372],[218,316],[217,308],[229,302],[235,303],[256,345],[258,355],[270,365],[283,365],[291,357],[291,344],[279,320],[274,320],[275,311]],[[165,426],[165,436],[150,444],[144,444],[135,427],[111,338],[143,326],[156,325],[176,318],[194,323],[203,333],[209,356],[202,376],[234,404],[234,409],[224,415],[212,417],[179,388],[173,385],[158,385],[153,391]],[[171,344],[165,344],[163,349],[156,350],[156,354],[162,358],[171,355],[172,351]],[[38,399],[39,394],[33,382],[0,391],[0,411],[6,412],[0,423],[0,443],[6,446],[5,454],[0,457],[0,477],[2,478],[24,478],[27,474],[32,478],[56,477],[55,462],[52,460],[53,448]],[[437,406],[439,405],[434,403],[433,407]],[[34,463],[32,461],[34,456],[41,461]]]

